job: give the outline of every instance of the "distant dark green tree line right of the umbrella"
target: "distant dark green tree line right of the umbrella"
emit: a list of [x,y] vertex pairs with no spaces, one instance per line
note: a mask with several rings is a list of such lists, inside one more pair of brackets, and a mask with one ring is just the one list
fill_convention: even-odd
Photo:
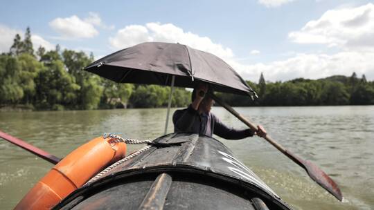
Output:
[[373,105],[374,82],[335,75],[324,79],[292,79],[287,82],[265,82],[260,75],[258,84],[247,82],[258,93],[252,100],[241,95],[222,95],[231,106],[335,106]]

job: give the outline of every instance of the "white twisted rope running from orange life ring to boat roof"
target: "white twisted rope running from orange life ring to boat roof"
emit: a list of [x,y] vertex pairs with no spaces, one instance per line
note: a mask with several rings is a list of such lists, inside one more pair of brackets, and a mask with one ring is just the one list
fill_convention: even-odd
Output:
[[[110,142],[125,142],[126,144],[148,144],[148,143],[151,142],[149,140],[141,140],[140,141],[140,140],[127,139],[127,138],[124,139],[123,137],[120,137],[119,135],[115,135],[115,134],[109,134],[109,137],[112,138],[112,141],[110,141]],[[150,149],[150,147],[151,147],[151,145],[144,146],[142,149],[139,149],[138,151],[136,151],[136,152],[132,153],[131,155],[127,156],[126,158],[123,158],[122,160],[118,160],[117,162],[115,162],[111,166],[107,167],[107,169],[105,169],[104,171],[101,171],[100,173],[98,173],[98,175],[96,175],[94,178],[91,178],[91,180],[86,182],[86,184],[84,184],[84,185],[91,184],[92,182],[95,182],[100,177],[105,175],[105,173],[108,173],[109,171],[114,169],[119,164],[122,164],[123,162],[126,162],[127,160],[130,160],[131,158],[134,158],[136,155],[139,155],[140,153],[143,153],[143,151],[146,151],[146,150]]]

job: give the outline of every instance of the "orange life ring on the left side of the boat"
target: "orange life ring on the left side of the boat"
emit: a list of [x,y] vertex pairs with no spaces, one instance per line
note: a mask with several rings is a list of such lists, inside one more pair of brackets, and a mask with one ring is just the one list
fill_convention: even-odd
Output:
[[97,137],[56,164],[28,191],[15,209],[52,209],[108,164],[125,157],[126,144]]

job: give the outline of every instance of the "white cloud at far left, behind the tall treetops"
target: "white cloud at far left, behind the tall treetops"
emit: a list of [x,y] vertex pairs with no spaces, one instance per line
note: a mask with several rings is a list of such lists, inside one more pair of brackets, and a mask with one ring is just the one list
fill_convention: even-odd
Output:
[[[15,35],[19,34],[21,39],[24,39],[24,31],[17,30],[13,28],[9,28],[8,26],[4,26],[0,24],[0,53],[7,53],[10,50],[10,47],[13,44],[13,39],[15,39]],[[37,50],[39,46],[43,46],[46,50],[53,50],[55,49],[55,45],[51,44],[49,41],[46,41],[43,37],[39,35],[31,35],[31,41],[33,41],[33,48]]]

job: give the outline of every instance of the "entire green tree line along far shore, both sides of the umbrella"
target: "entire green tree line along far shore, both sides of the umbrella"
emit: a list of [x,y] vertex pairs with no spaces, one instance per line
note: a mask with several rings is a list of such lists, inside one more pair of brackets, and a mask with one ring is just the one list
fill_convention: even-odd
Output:
[[[170,87],[117,84],[82,70],[94,55],[74,50],[35,51],[30,28],[24,39],[15,36],[8,53],[0,55],[0,108],[32,110],[150,108],[168,104]],[[374,104],[374,82],[365,75],[358,78],[332,76],[326,79],[293,79],[288,82],[247,82],[259,98],[220,94],[232,106],[308,106]],[[172,106],[190,104],[190,91],[175,88]]]

